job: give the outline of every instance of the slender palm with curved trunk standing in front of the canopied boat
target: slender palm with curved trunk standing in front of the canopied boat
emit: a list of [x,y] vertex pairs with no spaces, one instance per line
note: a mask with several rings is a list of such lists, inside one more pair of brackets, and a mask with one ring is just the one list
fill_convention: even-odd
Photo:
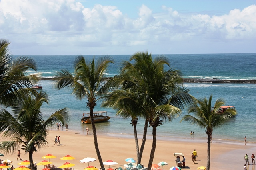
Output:
[[96,106],[96,102],[108,93],[108,88],[104,84],[106,83],[105,76],[109,63],[113,63],[110,56],[100,57],[95,62],[95,57],[92,61],[86,61],[80,55],[75,60],[74,77],[68,70],[61,70],[61,72],[57,72],[56,76],[56,88],[70,88],[77,99],[87,98],[88,100],[86,106],[90,109],[94,146],[101,168],[104,168],[104,165],[98,147],[93,109]]

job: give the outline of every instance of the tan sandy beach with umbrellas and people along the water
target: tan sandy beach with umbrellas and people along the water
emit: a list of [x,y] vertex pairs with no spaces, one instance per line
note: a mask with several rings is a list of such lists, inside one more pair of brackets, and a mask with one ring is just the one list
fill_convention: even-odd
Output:
[[[56,135],[60,135],[60,144],[54,145],[54,138]],[[111,168],[123,167],[127,162],[126,158],[134,158],[136,160],[136,147],[134,144],[134,139],[127,138],[125,136],[121,137],[111,137],[106,134],[97,134],[98,136],[98,145],[100,148],[100,154],[102,156],[103,162],[107,160],[113,160],[118,162],[116,165],[112,165]],[[96,152],[94,149],[94,141],[92,133],[86,135],[85,133],[79,133],[77,131],[71,131],[64,129],[63,131],[50,130],[47,137],[48,147],[34,152],[33,159],[34,162],[41,162],[42,156],[46,154],[53,154],[57,158],[50,159],[50,162],[57,167],[64,164],[65,160],[60,160],[63,156],[67,154],[75,157],[74,160],[69,160],[68,162],[76,164],[74,170],[83,170],[88,166],[88,164],[82,164],[79,160],[82,160],[86,157],[96,158]],[[4,141],[2,138],[0,141]],[[151,136],[148,136],[146,141],[146,146],[142,156],[142,164],[147,166],[148,159],[150,156],[152,140]],[[190,158],[191,152],[196,149],[198,153],[198,158],[195,164],[193,164],[192,159]],[[244,167],[244,154],[248,153],[249,158],[256,151],[255,143],[233,143],[230,141],[219,141],[213,140],[211,145],[211,166],[212,170],[221,168],[225,170],[233,169],[242,169]],[[159,140],[157,141],[156,152],[154,156],[153,164],[158,164],[161,161],[167,162],[168,165],[164,166],[165,170],[169,170],[170,167],[175,166],[175,157],[174,152],[182,152],[186,158],[186,169],[197,170],[199,166],[206,166],[207,161],[207,143],[195,141],[193,139],[177,140],[177,141],[166,141]],[[2,152],[3,153],[3,152]],[[28,160],[28,153],[25,154],[24,150],[21,150],[21,158],[23,160]],[[16,152],[12,155],[7,155],[0,157],[2,160],[10,159],[13,161],[11,165],[18,167],[20,160],[16,161],[17,154]],[[251,165],[251,159],[249,159],[250,165],[247,166],[248,170],[254,170],[255,165]],[[91,162],[90,165],[100,168],[98,160]],[[105,166],[108,168],[109,166]],[[37,166],[38,170],[43,169],[44,166]],[[162,169],[162,167],[160,167]]]

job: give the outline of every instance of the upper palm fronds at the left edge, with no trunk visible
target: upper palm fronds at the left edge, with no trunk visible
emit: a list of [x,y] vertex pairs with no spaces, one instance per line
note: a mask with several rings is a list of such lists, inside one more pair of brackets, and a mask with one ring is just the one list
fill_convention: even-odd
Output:
[[28,57],[12,59],[8,49],[9,41],[0,39],[0,105],[6,107],[14,105],[22,100],[22,96],[30,95],[32,84],[38,81],[38,77],[27,75],[27,71],[36,71],[36,63]]

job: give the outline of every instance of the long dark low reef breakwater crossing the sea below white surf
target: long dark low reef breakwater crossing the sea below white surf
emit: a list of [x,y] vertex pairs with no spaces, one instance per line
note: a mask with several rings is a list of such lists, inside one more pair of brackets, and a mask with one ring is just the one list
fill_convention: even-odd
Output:
[[[40,80],[55,80],[55,77],[41,77]],[[229,80],[229,79],[204,79],[204,78],[183,78],[183,82],[186,83],[249,83],[256,84],[256,80]]]

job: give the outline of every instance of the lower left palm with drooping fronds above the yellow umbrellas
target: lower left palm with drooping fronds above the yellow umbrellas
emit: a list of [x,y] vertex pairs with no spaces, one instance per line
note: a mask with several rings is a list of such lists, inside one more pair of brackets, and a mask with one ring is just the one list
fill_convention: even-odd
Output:
[[33,152],[47,146],[49,128],[58,121],[68,121],[66,108],[56,111],[44,121],[40,110],[44,102],[48,104],[48,95],[41,91],[35,98],[28,97],[18,106],[12,107],[13,113],[0,109],[0,133],[9,139],[0,142],[0,150],[14,153],[22,145],[22,149],[29,153],[32,170],[35,170]]

